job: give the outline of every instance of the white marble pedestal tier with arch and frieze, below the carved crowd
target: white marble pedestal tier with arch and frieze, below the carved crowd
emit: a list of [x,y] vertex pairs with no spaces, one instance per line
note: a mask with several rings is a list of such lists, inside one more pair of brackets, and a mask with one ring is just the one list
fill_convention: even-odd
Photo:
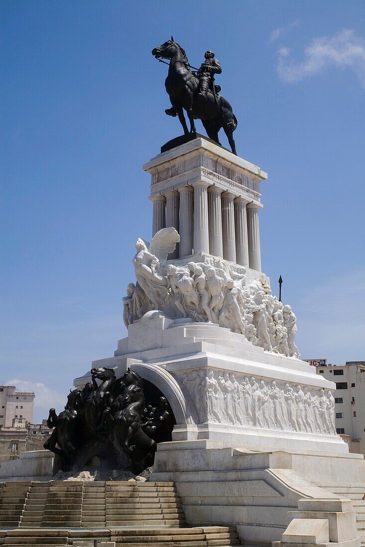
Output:
[[[117,377],[130,367],[156,385],[174,412],[173,440],[348,453],[321,392],[333,382],[300,359],[264,351],[216,324],[149,312],[129,325],[114,357],[93,366],[114,368]],[[87,373],[75,386],[89,379]]]

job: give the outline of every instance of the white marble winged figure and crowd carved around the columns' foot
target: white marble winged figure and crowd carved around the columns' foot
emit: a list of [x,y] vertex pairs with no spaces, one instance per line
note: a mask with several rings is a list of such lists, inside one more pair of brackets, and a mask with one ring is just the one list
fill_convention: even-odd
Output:
[[264,277],[247,283],[244,266],[209,255],[204,262],[172,263],[168,255],[179,240],[175,228],[163,228],[149,248],[141,239],[136,242],[136,283],[129,283],[123,298],[127,327],[147,311],[159,310],[171,319],[218,324],[265,351],[299,357],[296,317],[272,295]]

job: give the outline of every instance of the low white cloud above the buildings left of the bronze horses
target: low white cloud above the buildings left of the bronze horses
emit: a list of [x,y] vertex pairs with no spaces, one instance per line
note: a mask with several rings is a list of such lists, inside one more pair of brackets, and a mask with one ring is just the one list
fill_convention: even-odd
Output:
[[35,421],[36,418],[38,421],[47,418],[50,408],[54,407],[59,411],[67,403],[67,395],[65,393],[59,393],[55,389],[45,386],[42,382],[30,382],[28,380],[13,378],[8,380],[5,385],[15,386],[18,391],[29,391],[36,394],[34,401]]

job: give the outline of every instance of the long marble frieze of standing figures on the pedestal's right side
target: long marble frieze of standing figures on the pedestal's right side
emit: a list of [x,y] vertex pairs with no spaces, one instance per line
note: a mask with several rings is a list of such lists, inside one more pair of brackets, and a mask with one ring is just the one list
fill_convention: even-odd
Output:
[[196,405],[199,423],[336,434],[330,391],[213,369],[192,370],[177,379]]

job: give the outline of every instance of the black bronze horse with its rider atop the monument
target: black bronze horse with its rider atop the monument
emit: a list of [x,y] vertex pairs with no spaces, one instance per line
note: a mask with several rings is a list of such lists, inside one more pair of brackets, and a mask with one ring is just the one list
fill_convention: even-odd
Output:
[[[237,119],[230,103],[222,95],[218,95],[219,86],[214,85],[214,74],[220,74],[222,70],[219,61],[214,59],[213,51],[206,52],[205,60],[196,73],[191,71],[185,51],[174,42],[173,37],[152,49],[152,55],[156,59],[170,61],[165,87],[172,108],[167,109],[166,114],[178,116],[185,135],[195,134],[194,120],[201,120],[208,137],[217,144],[220,144],[218,132],[223,127],[232,152],[237,155],[233,139]],[[184,110],[189,118],[190,131],[187,129]]]

